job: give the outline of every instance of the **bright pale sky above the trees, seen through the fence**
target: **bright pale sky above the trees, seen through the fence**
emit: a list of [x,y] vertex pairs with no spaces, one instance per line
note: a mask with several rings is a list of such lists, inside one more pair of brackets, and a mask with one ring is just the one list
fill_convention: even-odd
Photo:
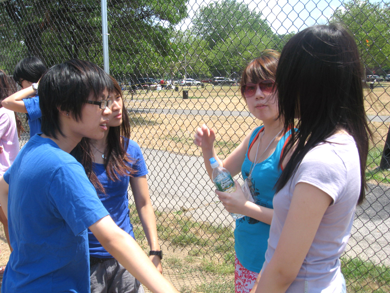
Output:
[[[189,17],[176,26],[185,30],[191,27],[195,11],[212,0],[189,0]],[[340,5],[340,0],[243,0],[250,10],[261,11],[274,32],[298,32],[313,24],[326,24]]]

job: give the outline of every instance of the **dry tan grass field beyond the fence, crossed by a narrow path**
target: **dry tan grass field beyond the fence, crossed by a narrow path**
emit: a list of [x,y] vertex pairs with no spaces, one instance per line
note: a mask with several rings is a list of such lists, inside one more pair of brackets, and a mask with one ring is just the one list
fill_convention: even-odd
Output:
[[[365,90],[367,115],[390,115],[390,83],[382,83],[372,91]],[[183,100],[182,90],[188,90],[189,99]],[[137,91],[133,100],[125,91],[128,108],[159,108],[177,110],[248,111],[238,86],[183,87],[179,91]],[[132,113],[133,138],[142,147],[200,155],[193,144],[196,127],[206,124],[217,132],[217,152],[227,155],[251,129],[260,125],[253,117],[217,117],[201,115]],[[382,122],[370,123],[373,144],[383,148],[389,126]]]

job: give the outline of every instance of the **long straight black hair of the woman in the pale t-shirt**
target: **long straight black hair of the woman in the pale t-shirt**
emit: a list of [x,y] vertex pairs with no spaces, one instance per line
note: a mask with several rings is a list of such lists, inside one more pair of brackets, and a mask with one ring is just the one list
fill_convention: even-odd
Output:
[[[355,140],[360,160],[361,190],[365,198],[365,168],[370,129],[364,109],[364,71],[356,43],[339,24],[315,25],[294,35],[284,46],[276,71],[279,115],[285,129],[294,129],[282,160],[292,156],[279,180],[283,188],[308,151],[345,129]],[[297,119],[297,123],[295,123]]]

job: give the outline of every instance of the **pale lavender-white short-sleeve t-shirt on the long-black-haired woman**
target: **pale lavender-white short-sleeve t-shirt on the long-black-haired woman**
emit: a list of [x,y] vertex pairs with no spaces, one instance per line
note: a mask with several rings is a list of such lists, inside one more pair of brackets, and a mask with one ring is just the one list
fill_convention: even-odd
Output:
[[335,134],[313,147],[290,181],[273,198],[273,219],[262,270],[270,262],[290,208],[295,185],[311,184],[331,196],[312,246],[287,293],[341,292],[343,276],[339,257],[351,234],[360,194],[360,162],[353,138]]

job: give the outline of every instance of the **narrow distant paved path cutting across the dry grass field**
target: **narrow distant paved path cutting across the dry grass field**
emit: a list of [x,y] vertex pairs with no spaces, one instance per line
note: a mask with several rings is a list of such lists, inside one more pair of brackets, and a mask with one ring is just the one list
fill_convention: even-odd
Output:
[[[220,110],[196,110],[196,109],[161,109],[161,108],[127,108],[128,111],[134,113],[157,113],[157,114],[171,114],[171,115],[200,115],[200,116],[241,116],[248,117],[252,114],[248,111],[220,111]],[[390,116],[386,115],[368,115],[367,119],[371,122],[388,122],[390,123]]]

